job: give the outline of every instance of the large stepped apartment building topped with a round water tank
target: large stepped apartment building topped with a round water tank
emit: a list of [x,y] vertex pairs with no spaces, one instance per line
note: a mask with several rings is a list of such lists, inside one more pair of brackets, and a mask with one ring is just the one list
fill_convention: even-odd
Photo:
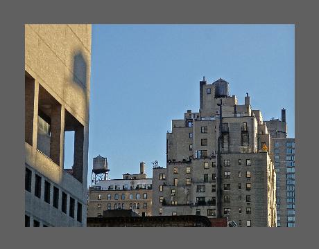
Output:
[[239,226],[276,226],[270,134],[250,96],[200,81],[199,112],[172,120],[166,168],[153,168],[153,215],[227,217]]

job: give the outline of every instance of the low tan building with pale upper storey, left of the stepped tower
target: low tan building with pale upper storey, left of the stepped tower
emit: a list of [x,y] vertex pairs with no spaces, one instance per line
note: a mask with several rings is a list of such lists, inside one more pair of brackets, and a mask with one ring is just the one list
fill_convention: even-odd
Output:
[[133,210],[139,216],[152,214],[152,178],[140,163],[139,174],[123,174],[122,179],[98,181],[89,187],[88,217],[103,215],[105,210]]

